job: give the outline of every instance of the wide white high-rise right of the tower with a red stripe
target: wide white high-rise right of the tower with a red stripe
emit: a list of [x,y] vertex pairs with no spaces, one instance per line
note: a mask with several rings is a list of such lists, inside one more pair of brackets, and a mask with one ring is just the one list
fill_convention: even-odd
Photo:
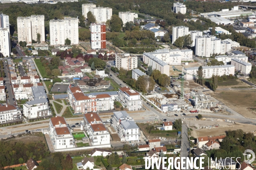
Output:
[[78,18],[65,17],[64,20],[50,20],[50,44],[65,45],[68,38],[71,45],[78,44]]

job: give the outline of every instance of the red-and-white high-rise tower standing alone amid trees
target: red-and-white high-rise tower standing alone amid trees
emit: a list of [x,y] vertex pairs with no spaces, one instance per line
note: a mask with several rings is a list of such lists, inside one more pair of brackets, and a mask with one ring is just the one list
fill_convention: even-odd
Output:
[[106,24],[91,23],[91,48],[105,49],[106,48]]

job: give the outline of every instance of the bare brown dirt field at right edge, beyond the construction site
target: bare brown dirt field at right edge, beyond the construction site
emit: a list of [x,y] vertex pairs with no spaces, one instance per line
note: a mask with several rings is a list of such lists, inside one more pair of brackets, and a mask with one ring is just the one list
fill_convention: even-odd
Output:
[[244,117],[256,119],[256,90],[216,91],[211,95]]

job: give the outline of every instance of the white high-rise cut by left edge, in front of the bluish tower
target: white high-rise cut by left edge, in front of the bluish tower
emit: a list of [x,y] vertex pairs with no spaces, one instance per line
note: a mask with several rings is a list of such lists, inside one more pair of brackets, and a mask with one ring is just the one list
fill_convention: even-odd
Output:
[[0,28],[0,53],[4,57],[10,57],[11,54],[10,34],[7,28]]

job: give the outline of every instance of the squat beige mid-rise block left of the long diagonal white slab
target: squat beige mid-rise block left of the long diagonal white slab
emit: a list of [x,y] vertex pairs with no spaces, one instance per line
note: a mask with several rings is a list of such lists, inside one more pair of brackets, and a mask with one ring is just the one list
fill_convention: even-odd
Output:
[[138,57],[130,55],[129,53],[116,54],[116,68],[121,67],[125,70],[132,70],[137,68]]

